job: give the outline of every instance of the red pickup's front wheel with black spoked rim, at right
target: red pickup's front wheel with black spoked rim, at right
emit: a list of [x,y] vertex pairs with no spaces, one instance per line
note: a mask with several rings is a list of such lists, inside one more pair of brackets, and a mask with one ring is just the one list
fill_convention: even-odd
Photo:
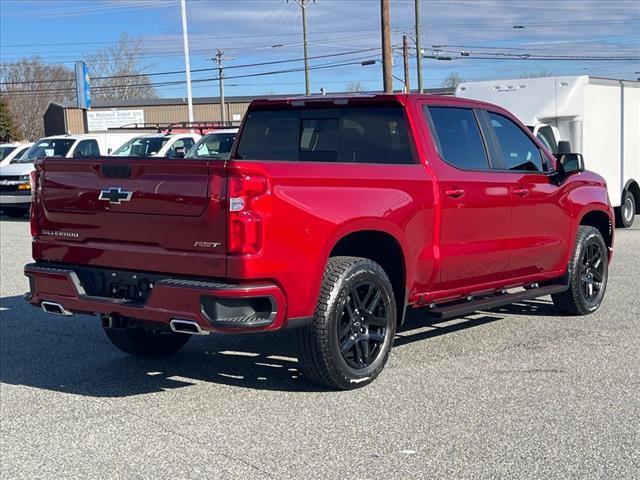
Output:
[[569,289],[552,295],[553,303],[570,315],[595,312],[604,298],[608,276],[609,257],[602,234],[582,225],[569,264]]

